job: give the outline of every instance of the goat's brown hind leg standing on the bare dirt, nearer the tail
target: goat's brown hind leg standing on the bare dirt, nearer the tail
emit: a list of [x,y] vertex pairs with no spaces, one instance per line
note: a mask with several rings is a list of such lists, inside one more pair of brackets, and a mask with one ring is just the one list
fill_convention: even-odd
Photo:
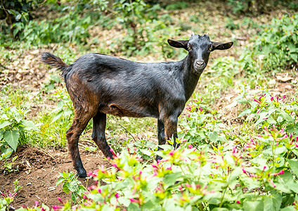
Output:
[[79,155],[79,136],[82,134],[92,117],[92,113],[86,113],[84,111],[75,113],[72,125],[66,132],[68,148],[72,157],[74,169],[77,170],[77,176],[83,178],[86,177],[87,174]]

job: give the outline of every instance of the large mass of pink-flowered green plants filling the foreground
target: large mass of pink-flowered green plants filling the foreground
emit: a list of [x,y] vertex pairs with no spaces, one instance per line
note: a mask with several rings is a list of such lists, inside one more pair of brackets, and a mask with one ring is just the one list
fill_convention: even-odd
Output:
[[123,151],[111,160],[112,169],[89,172],[96,185],[77,210],[294,210],[296,139],[271,128],[244,148],[233,145],[162,146],[157,154],[164,159],[152,164],[135,151]]

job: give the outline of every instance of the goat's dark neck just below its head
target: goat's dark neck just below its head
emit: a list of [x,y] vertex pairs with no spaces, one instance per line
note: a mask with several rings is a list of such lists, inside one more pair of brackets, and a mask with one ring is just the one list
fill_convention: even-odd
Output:
[[200,79],[200,75],[195,75],[193,73],[193,64],[190,64],[191,61],[188,55],[179,63],[181,63],[181,79],[183,80],[184,84],[185,97],[186,101],[188,101],[190,96],[193,94],[193,91],[195,91],[195,87],[197,86],[197,81]]

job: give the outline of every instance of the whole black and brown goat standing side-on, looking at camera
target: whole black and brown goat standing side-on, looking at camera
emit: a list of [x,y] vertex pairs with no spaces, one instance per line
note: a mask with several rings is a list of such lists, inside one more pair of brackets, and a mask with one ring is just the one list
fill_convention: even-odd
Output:
[[[93,141],[105,157],[112,158],[105,140],[106,115],[157,118],[158,143],[176,139],[178,117],[195,90],[209,54],[225,50],[233,42],[210,41],[193,34],[189,40],[168,39],[171,46],[188,55],[181,61],[136,63],[100,53],[88,53],[66,65],[57,56],[43,53],[41,61],[61,70],[74,106],[74,119],[67,131],[70,154],[79,177],[86,177],[79,156],[79,136],[93,118]],[[174,146],[176,141],[174,140]]]

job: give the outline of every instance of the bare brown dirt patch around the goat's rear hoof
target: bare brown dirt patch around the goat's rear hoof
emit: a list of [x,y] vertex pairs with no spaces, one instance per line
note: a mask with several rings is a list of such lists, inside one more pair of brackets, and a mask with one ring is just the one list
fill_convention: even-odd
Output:
[[[101,151],[89,152],[80,148],[81,158],[87,172],[93,171],[100,165],[108,167],[110,164],[105,159]],[[18,167],[18,172],[0,174],[0,191],[13,192],[13,181],[18,179],[19,186],[22,186],[13,203],[11,210],[17,209],[22,205],[33,207],[35,201],[47,206],[61,205],[60,197],[63,201],[70,200],[70,193],[63,192],[62,184],[56,186],[59,172],[75,172],[72,167],[71,158],[67,153],[67,148],[59,149],[40,149],[29,146],[18,148],[18,155],[13,167]],[[1,166],[1,163],[0,163]],[[81,179],[84,186],[94,184],[92,179]]]

